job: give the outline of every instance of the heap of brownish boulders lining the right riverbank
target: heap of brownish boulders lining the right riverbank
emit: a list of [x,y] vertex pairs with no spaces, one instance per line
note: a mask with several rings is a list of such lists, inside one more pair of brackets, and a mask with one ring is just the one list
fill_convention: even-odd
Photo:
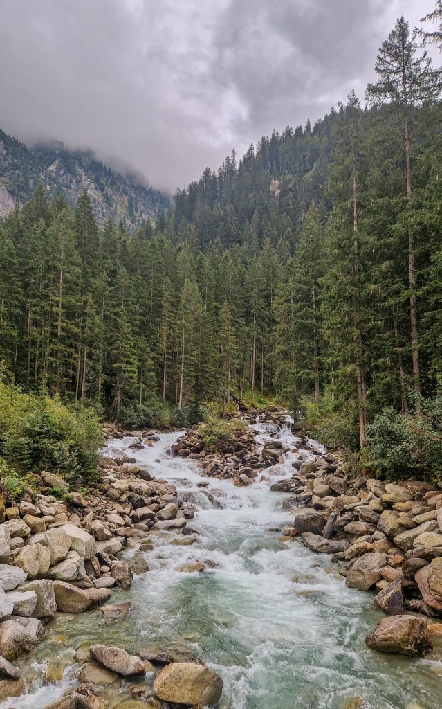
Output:
[[[356,476],[341,452],[327,452],[271,489],[292,493],[298,503],[286,537],[299,538],[313,552],[333,554],[346,585],[374,591],[378,607],[395,616],[382,621],[367,644],[405,652],[411,643],[419,652],[406,654],[429,652],[429,634],[440,634],[442,626],[410,623],[412,616],[404,612],[442,617],[441,488],[413,479],[392,483]],[[420,640],[412,642],[409,634],[414,637],[417,630]]]

